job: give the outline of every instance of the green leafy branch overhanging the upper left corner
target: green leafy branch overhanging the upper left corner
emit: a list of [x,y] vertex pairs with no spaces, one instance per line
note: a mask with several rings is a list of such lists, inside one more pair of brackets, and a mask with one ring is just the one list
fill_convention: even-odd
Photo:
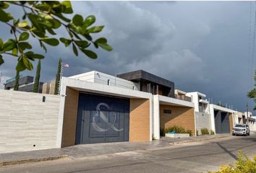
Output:
[[[9,6],[19,6],[24,12],[22,19],[15,19],[8,13]],[[104,27],[93,26],[96,20],[93,15],[83,18],[80,14],[75,14],[72,19],[65,16],[72,13],[70,1],[0,1],[0,22],[4,22],[13,35],[6,41],[0,38],[0,66],[4,63],[3,56],[6,54],[17,57],[17,71],[32,70],[31,61],[43,59],[44,56],[33,51],[33,45],[28,41],[30,36],[38,40],[45,52],[46,44],[57,46],[59,40],[66,47],[71,45],[75,56],[78,56],[80,50],[89,58],[97,58],[97,54],[89,49],[90,45],[112,50],[105,37],[93,40],[92,34],[101,32]],[[53,37],[60,27],[67,30],[69,37]]]

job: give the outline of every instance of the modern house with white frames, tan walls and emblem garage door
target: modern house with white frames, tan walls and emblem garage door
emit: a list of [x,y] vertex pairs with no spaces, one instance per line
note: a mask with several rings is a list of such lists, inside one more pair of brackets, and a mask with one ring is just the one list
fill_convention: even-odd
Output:
[[146,71],[111,76],[90,71],[61,81],[59,146],[151,141],[160,128],[182,125],[195,134],[194,105],[176,99],[174,82]]

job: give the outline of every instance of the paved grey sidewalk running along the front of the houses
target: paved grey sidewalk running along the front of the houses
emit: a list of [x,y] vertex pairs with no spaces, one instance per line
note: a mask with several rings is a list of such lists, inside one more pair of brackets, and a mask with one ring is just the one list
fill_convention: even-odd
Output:
[[209,141],[215,138],[227,138],[230,134],[216,136],[197,136],[189,138],[166,138],[160,140],[131,143],[96,143],[70,146],[66,148],[52,148],[38,151],[23,151],[15,153],[0,154],[0,167],[10,164],[22,164],[35,161],[46,161],[54,159],[78,159],[88,156],[100,156],[103,154],[115,154],[126,151],[151,150],[167,146],[177,145],[180,143],[192,143],[198,141]]

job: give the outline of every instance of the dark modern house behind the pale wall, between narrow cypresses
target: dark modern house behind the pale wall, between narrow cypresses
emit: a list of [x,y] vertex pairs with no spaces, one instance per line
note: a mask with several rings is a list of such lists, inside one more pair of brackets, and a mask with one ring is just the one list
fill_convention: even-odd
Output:
[[[13,90],[15,85],[15,78],[8,79],[4,84],[4,89]],[[33,76],[20,76],[19,91],[33,92],[34,77]],[[39,93],[42,92],[43,82],[39,83]]]

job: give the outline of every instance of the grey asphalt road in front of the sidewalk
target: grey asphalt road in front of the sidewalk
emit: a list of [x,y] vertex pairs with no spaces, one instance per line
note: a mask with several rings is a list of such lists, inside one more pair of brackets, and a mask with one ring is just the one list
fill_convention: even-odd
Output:
[[0,172],[208,172],[236,161],[237,152],[256,156],[256,135],[119,154],[1,167]]

